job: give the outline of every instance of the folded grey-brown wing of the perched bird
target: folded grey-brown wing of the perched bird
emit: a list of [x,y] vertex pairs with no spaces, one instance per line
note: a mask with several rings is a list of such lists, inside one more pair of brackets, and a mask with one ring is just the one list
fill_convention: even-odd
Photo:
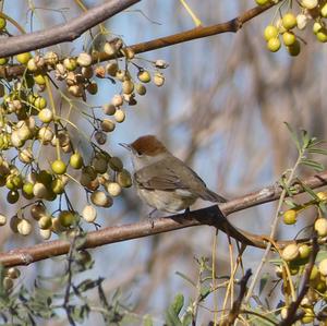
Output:
[[[206,186],[203,180],[189,167],[186,167],[185,170],[179,170],[178,172],[165,162],[156,162],[153,166],[148,166],[135,172],[134,180],[137,182],[138,186],[147,190],[189,190],[191,189],[191,182],[195,181],[194,179],[196,179],[198,185]],[[186,176],[179,176],[180,173]]]

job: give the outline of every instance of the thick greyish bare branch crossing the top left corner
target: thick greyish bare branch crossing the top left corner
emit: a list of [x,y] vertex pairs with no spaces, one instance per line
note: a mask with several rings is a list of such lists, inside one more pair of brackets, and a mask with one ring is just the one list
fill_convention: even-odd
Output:
[[55,25],[45,31],[8,37],[1,43],[0,58],[45,48],[63,41],[72,41],[87,29],[140,1],[141,0],[106,1],[104,4],[88,10],[81,14],[81,16],[65,24]]

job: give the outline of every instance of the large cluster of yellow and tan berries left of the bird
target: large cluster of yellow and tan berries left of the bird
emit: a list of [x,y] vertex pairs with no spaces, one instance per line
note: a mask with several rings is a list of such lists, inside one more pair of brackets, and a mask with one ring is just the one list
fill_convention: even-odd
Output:
[[[0,17],[0,33],[7,33],[5,26]],[[59,58],[53,51],[0,59],[0,65],[8,69],[25,67],[22,76],[0,80],[0,186],[8,190],[8,203],[21,206],[10,218],[14,232],[27,236],[36,225],[39,234],[49,239],[52,232],[80,226],[81,220],[94,224],[95,206],[110,207],[113,197],[132,184],[121,159],[102,145],[116,124],[125,120],[125,107],[136,105],[137,96],[146,94],[146,84],[164,85],[161,70],[168,64],[157,60],[149,62],[150,68],[140,65],[143,61],[121,38],[106,41],[102,50],[113,59],[99,63],[96,55]],[[92,107],[86,99],[97,93],[98,80],[119,85],[120,93],[102,106]],[[60,105],[55,102],[55,92]],[[69,106],[68,112],[62,104]],[[89,134],[77,125],[84,121],[92,125]],[[90,158],[78,148],[82,140],[90,146]],[[69,200],[66,191],[72,183],[86,192],[82,212]],[[47,202],[56,200],[58,209],[48,212]],[[0,226],[7,220],[0,215]]]

